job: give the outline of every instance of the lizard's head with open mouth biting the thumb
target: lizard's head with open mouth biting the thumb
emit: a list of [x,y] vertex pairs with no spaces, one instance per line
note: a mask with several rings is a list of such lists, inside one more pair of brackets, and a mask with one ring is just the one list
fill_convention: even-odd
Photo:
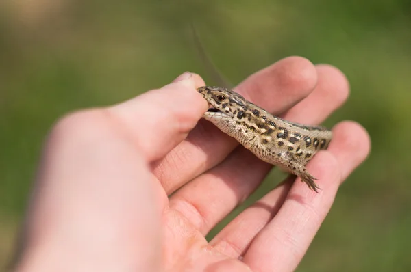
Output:
[[219,116],[220,118],[234,118],[244,114],[247,110],[247,101],[236,92],[223,87],[199,87],[197,91],[205,98],[210,109],[204,117]]

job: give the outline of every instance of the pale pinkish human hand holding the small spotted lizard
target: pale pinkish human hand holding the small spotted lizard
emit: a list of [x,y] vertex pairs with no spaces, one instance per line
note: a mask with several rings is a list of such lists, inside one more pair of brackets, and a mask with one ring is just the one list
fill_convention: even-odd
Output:
[[[369,136],[355,122],[336,124],[328,150],[307,165],[319,193],[288,178],[208,243],[206,234],[271,165],[201,120],[208,109],[196,91],[201,85],[197,74],[182,74],[55,124],[27,210],[18,271],[295,270],[338,187],[369,153]],[[287,120],[319,124],[343,105],[349,85],[332,66],[288,57],[235,90]]]

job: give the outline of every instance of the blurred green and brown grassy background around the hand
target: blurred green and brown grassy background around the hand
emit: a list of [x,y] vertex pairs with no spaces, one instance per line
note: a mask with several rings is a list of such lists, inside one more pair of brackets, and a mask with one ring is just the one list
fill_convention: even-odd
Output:
[[191,21],[232,83],[289,55],[337,66],[350,81],[349,100],[325,125],[360,122],[371,156],[340,188],[297,271],[411,271],[405,0],[1,0],[0,267],[11,258],[42,141],[59,116],[118,103],[186,70],[215,83]]

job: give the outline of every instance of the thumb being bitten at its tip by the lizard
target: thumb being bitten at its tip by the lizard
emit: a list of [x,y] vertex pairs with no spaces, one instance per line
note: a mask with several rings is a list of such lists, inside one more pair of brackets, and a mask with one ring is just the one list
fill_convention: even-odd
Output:
[[185,73],[161,89],[110,107],[108,113],[119,132],[154,161],[185,139],[207,111],[208,103],[196,90],[201,85],[198,75]]

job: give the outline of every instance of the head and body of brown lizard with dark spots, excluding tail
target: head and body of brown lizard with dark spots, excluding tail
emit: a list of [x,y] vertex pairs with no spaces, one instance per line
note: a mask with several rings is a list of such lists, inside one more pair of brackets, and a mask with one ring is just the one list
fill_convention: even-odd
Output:
[[321,126],[306,126],[271,115],[223,87],[199,87],[210,109],[203,118],[236,139],[262,161],[299,176],[318,193],[319,186],[306,170],[316,152],[326,149],[332,132]]

